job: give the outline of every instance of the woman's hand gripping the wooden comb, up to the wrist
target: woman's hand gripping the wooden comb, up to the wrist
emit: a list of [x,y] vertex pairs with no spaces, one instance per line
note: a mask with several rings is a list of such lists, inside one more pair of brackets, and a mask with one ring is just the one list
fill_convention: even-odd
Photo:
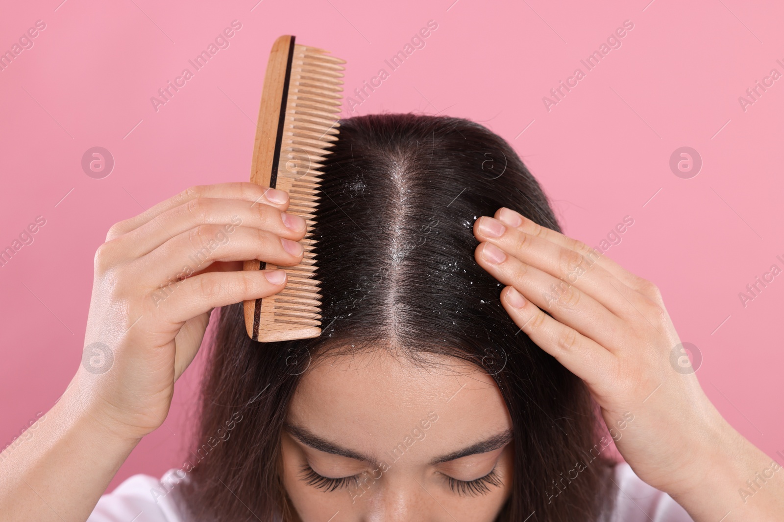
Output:
[[242,261],[302,260],[306,222],[288,207],[287,193],[254,183],[201,185],[112,226],[96,251],[72,381],[82,412],[122,438],[159,427],[212,308],[285,287],[284,271],[274,279],[276,271],[243,271]]

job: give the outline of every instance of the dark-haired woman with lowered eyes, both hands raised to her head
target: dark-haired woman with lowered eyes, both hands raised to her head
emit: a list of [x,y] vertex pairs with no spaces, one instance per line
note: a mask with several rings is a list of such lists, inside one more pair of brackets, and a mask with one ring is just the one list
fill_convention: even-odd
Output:
[[[354,117],[324,170],[314,339],[245,333],[241,301],[285,278],[241,261],[302,258],[285,193],[194,187],[111,228],[85,360],[32,444],[4,455],[9,520],[716,522],[784,507],[780,466],[671,365],[656,287],[561,235],[503,139],[458,118]],[[193,458],[98,502],[218,307]]]

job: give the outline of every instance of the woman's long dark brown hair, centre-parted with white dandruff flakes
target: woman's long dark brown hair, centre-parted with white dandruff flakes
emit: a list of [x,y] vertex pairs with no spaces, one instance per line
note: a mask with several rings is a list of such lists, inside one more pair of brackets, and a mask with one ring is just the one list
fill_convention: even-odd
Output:
[[314,226],[321,337],[256,343],[242,304],[220,310],[193,453],[241,420],[181,484],[194,519],[291,520],[280,469],[289,401],[312,358],[354,346],[451,355],[495,378],[514,430],[513,491],[498,520],[600,520],[615,489],[612,461],[595,456],[590,394],[520,332],[503,285],[474,260],[474,221],[499,207],[560,232],[539,183],[503,139],[461,118],[351,117],[332,150]]

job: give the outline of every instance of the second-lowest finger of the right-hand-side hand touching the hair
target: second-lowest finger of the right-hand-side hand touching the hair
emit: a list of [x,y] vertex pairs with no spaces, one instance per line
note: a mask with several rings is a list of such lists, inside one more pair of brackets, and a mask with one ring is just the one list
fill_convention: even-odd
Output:
[[546,309],[565,326],[583,333],[607,349],[613,349],[620,333],[626,328],[626,322],[576,286],[523,263],[492,243],[480,243],[475,257],[477,263],[495,279],[514,286],[528,301]]

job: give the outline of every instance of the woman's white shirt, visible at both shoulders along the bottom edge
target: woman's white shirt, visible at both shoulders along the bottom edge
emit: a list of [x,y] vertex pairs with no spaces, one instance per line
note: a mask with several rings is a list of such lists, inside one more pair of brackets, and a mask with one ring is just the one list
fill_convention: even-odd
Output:
[[[149,475],[133,475],[114,491],[101,496],[87,522],[190,522],[174,502],[178,488],[165,494],[161,484],[179,482],[167,471],[161,481]],[[612,522],[693,522],[688,513],[670,495],[645,484],[629,464],[615,466],[618,498]],[[157,500],[157,502],[156,502]]]

